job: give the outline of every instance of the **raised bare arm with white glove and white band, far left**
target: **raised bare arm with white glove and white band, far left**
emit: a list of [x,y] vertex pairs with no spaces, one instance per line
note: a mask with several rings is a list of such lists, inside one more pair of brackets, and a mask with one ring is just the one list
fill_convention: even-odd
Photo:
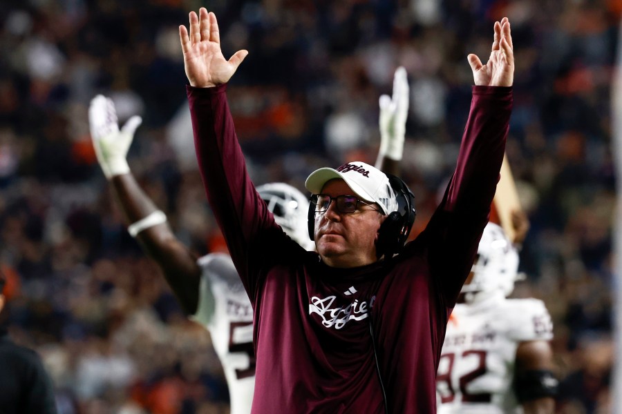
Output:
[[142,120],[132,117],[119,130],[114,103],[102,95],[91,101],[88,119],[97,161],[129,223],[129,233],[162,268],[184,311],[194,314],[200,282],[196,257],[173,235],[166,215],[140,188],[126,161],[134,132]]

